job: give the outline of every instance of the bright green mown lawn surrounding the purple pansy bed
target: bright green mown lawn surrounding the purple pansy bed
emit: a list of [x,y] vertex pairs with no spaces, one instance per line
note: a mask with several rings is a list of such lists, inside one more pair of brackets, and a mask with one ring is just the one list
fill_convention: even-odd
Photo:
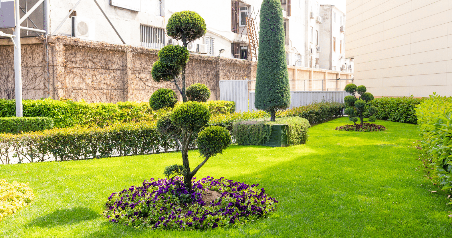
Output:
[[[30,182],[36,200],[0,222],[0,237],[451,237],[445,192],[432,185],[412,146],[416,125],[377,121],[387,131],[335,131],[336,119],[310,128],[304,145],[231,146],[198,178],[259,183],[279,201],[268,219],[204,232],[135,230],[106,221],[112,192],[163,177],[180,153],[1,165],[0,178]],[[201,161],[190,151],[192,167]]]

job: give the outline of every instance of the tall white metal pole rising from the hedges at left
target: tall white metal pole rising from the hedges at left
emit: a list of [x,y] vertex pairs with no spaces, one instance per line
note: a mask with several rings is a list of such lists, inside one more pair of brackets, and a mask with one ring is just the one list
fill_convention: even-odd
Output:
[[16,116],[22,117],[22,66],[20,55],[20,15],[19,15],[19,0],[14,0],[15,22],[14,27],[14,83],[16,87]]

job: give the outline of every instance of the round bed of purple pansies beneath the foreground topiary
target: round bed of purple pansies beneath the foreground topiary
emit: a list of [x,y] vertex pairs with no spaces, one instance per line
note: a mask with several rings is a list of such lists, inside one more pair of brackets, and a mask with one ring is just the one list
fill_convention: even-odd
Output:
[[[113,223],[139,229],[212,229],[267,217],[278,203],[264,188],[257,188],[259,184],[248,185],[223,177],[195,179],[192,192],[182,185],[182,177],[156,181],[151,178],[142,186],[113,192],[104,216]],[[212,191],[218,192],[217,198],[206,201],[207,193]]]

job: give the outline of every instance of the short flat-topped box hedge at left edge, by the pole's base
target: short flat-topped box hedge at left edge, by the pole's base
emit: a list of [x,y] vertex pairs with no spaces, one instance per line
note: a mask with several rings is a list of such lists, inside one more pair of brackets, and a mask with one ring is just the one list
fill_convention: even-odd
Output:
[[0,117],[0,133],[21,133],[53,128],[48,117]]

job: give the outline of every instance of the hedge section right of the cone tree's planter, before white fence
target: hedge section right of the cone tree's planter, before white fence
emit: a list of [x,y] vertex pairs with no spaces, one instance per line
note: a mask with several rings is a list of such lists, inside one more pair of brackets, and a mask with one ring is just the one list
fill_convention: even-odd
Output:
[[306,106],[294,107],[282,112],[282,117],[302,117],[308,120],[309,124],[315,125],[336,119],[342,116],[344,104],[339,102],[315,102]]

